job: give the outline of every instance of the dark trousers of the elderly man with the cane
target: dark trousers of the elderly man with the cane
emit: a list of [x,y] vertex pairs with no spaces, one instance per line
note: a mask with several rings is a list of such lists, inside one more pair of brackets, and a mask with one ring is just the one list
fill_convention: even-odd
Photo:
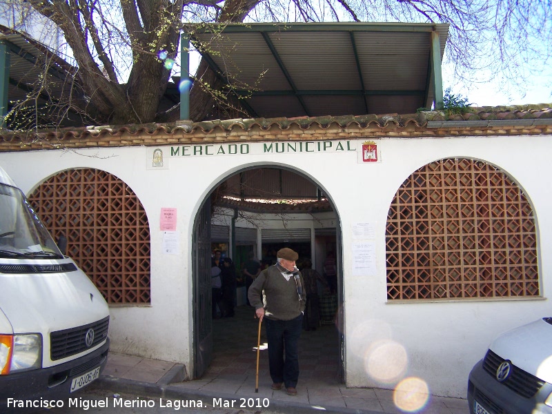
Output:
[[295,387],[299,379],[298,346],[303,314],[289,321],[273,321],[268,318],[264,318],[264,321],[268,341],[268,368],[272,382],[283,382],[286,388]]

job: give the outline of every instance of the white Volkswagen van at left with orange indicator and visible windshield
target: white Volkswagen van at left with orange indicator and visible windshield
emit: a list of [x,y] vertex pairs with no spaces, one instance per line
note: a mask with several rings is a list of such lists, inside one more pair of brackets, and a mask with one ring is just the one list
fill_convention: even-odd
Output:
[[0,413],[48,408],[97,379],[108,326],[101,293],[0,168]]

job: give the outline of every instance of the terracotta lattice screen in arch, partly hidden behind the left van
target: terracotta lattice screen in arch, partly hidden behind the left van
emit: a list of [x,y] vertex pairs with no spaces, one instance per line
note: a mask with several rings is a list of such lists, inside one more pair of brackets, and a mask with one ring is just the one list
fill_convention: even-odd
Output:
[[150,228],[135,193],[94,169],[66,170],[29,197],[44,225],[110,304],[150,302]]

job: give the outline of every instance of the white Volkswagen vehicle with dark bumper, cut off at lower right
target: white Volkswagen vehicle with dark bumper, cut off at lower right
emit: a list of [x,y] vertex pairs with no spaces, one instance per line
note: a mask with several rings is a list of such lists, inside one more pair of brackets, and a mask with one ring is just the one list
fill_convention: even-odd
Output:
[[476,414],[552,414],[552,317],[498,336],[469,375]]

